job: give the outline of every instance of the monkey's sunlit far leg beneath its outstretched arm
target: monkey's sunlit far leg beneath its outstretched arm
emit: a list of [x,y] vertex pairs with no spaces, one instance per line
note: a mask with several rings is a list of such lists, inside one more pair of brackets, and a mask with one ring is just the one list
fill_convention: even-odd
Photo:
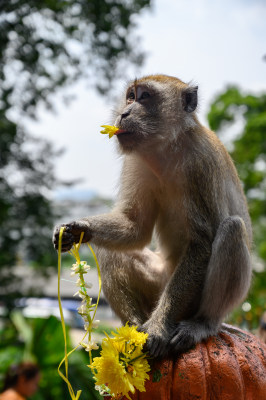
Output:
[[96,248],[96,253],[111,308],[123,323],[143,324],[167,279],[161,257],[147,248],[128,252]]

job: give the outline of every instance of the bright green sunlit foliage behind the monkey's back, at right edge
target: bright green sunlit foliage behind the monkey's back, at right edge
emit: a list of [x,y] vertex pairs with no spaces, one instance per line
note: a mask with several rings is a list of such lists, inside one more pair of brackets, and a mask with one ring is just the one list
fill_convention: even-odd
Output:
[[[266,260],[266,94],[243,93],[232,86],[213,101],[209,124],[218,134],[236,126],[238,133],[230,143],[230,154],[237,167],[247,197],[253,224],[254,251]],[[266,270],[255,271],[247,301],[251,309],[239,309],[232,321],[258,324],[266,304]]]

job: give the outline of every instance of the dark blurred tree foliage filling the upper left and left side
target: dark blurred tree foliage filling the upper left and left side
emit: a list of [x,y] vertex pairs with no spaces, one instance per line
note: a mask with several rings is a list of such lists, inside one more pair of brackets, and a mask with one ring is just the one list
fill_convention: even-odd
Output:
[[[0,0],[0,299],[15,294],[19,256],[55,263],[49,193],[58,156],[30,137],[21,116],[35,118],[61,87],[86,78],[101,93],[127,63],[141,64],[136,16],[150,0]],[[17,285],[15,285],[15,283]]]

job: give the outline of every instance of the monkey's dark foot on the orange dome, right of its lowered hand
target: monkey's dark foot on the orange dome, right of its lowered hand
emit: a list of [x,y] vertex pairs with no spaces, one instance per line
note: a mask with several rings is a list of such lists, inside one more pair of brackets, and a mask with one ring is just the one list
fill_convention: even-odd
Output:
[[209,324],[204,320],[181,321],[170,340],[170,351],[175,354],[184,353],[193,348],[203,339],[218,332],[218,325]]

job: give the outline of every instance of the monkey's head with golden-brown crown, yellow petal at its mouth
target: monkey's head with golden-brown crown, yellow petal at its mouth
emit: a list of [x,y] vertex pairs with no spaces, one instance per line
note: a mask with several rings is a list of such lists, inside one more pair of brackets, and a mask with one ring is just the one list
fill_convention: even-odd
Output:
[[[122,152],[163,149],[195,121],[198,87],[178,78],[151,75],[131,82],[116,111]],[[194,122],[195,124],[195,122]]]

